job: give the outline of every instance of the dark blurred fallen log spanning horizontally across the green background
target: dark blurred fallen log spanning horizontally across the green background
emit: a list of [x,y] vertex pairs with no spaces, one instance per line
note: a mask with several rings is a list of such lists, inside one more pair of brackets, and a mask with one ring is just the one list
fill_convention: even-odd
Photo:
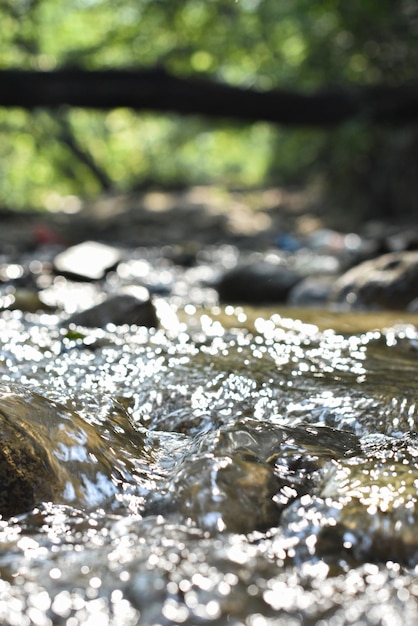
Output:
[[418,120],[418,86],[378,86],[307,95],[286,90],[257,91],[163,69],[140,71],[0,71],[0,106],[135,110],[197,114],[247,122],[333,126],[356,118],[368,123]]

